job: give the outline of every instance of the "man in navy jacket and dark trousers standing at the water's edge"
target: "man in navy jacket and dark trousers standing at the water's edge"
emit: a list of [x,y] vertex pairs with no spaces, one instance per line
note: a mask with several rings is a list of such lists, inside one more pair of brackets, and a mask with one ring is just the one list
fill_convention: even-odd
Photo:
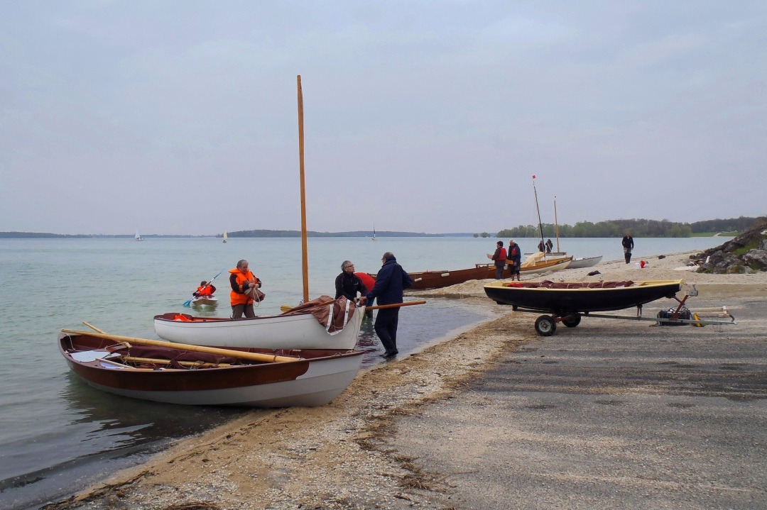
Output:
[[[392,305],[402,302],[402,291],[413,285],[410,275],[405,273],[402,266],[397,263],[394,253],[387,251],[381,258],[384,263],[378,270],[376,284],[373,290],[367,293],[367,302],[378,299],[378,305]],[[397,323],[400,319],[400,307],[379,309],[376,315],[374,328],[376,335],[384,345],[386,353],[384,358],[392,358],[399,354],[397,351]]]

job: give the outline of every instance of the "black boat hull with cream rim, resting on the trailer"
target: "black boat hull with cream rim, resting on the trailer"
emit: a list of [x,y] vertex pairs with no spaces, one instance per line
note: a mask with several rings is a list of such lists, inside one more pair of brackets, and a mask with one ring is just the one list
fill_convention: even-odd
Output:
[[[599,283],[593,283],[598,285]],[[603,283],[608,285],[610,283]],[[661,298],[672,298],[682,288],[682,280],[655,280],[614,288],[547,288],[522,287],[508,282],[486,285],[486,295],[495,302],[515,306],[525,311],[568,313],[607,312],[621,310]],[[525,285],[525,283],[522,283]],[[530,285],[530,284],[527,284]],[[553,283],[553,286],[584,285],[582,282]]]

